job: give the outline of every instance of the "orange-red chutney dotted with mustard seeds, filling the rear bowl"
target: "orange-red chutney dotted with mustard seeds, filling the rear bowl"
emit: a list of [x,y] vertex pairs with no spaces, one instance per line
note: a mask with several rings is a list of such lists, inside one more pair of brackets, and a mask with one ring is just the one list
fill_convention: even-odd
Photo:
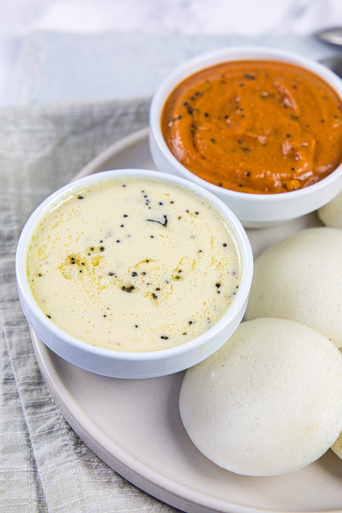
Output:
[[250,193],[307,187],[342,161],[342,103],[286,63],[219,64],[186,78],[162,114],[176,159],[207,182]]

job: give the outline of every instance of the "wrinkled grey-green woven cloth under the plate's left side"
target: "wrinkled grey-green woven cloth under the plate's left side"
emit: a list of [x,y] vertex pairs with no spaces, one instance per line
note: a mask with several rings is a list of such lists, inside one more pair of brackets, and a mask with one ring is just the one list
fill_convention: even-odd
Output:
[[16,293],[14,258],[32,210],[98,152],[148,123],[148,101],[0,110],[0,511],[176,511],[101,461],[56,408]]

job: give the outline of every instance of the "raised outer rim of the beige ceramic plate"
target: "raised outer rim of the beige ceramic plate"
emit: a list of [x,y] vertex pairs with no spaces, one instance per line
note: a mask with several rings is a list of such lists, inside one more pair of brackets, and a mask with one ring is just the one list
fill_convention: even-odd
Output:
[[[145,127],[117,141],[97,154],[71,181],[98,172],[98,168],[103,167],[115,155],[127,150],[131,145],[144,142],[145,139],[148,139],[148,135],[149,127]],[[90,419],[59,375],[51,358],[51,350],[37,337],[32,328],[30,328],[30,334],[38,367],[57,408],[84,443],[120,476],[152,497],[188,513],[290,513],[290,510],[252,507],[204,494],[169,478],[134,457]],[[305,513],[336,513],[338,511],[342,511],[342,509],[306,510]],[[304,512],[291,510],[291,513]]]

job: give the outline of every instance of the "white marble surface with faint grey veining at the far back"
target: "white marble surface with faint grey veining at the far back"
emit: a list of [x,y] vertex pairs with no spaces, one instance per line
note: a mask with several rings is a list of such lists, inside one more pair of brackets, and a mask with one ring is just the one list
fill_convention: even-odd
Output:
[[342,0],[0,0],[0,5],[0,105],[20,101],[13,95],[19,57],[35,31],[285,36],[342,25]]

